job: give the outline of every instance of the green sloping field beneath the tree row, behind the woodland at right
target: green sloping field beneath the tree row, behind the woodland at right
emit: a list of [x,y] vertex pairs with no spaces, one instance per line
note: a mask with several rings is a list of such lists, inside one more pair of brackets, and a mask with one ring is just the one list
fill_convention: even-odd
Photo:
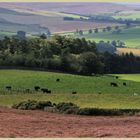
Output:
[[88,40],[92,40],[92,41],[96,41],[99,42],[101,40],[103,41],[113,41],[113,40],[120,40],[123,41],[126,44],[126,47],[128,48],[140,48],[140,40],[139,40],[139,34],[140,34],[140,27],[136,26],[136,27],[131,27],[128,29],[121,29],[120,33],[112,33],[112,31],[110,32],[102,32],[99,31],[99,33],[92,33],[89,34],[87,31],[84,32],[83,36],[80,35],[75,35],[70,33],[71,36],[74,37],[84,37]]

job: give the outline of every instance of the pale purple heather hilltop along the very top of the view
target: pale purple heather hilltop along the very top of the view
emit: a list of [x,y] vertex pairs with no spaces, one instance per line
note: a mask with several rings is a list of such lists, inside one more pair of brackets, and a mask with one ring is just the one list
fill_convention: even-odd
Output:
[[93,2],[93,3],[78,3],[78,2],[66,2],[66,3],[2,3],[0,7],[16,7],[33,10],[49,10],[59,12],[69,12],[77,14],[97,14],[97,13],[110,13],[115,11],[132,10],[130,5],[122,5],[117,3],[107,2]]

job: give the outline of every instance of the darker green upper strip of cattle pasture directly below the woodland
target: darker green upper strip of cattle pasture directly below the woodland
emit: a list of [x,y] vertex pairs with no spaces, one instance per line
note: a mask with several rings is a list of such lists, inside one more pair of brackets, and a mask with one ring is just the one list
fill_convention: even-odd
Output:
[[[56,82],[59,78],[60,82]],[[116,82],[119,87],[111,87],[110,83]],[[126,82],[127,86],[123,86]],[[6,86],[13,89],[34,89],[34,86],[51,89],[53,93],[78,94],[132,94],[139,93],[138,82],[116,79],[110,75],[104,76],[78,76],[53,72],[27,71],[27,70],[0,70],[0,89],[5,90]]]

